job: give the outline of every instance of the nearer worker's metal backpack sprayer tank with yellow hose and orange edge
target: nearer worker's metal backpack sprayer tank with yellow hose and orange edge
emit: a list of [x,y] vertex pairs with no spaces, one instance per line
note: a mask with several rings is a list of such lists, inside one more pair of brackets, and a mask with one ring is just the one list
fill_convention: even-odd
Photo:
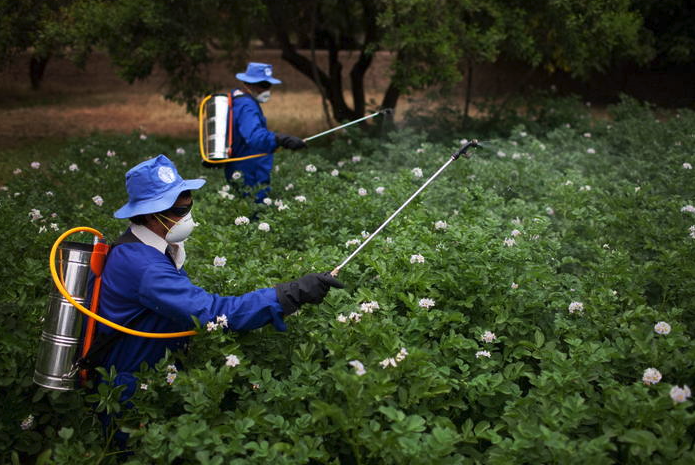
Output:
[[[76,232],[94,234],[94,245],[63,240]],[[96,322],[121,333],[149,338],[186,337],[196,331],[178,333],[148,333],[118,325],[97,314],[101,273],[106,264],[109,246],[102,233],[93,228],[78,227],[63,233],[53,244],[49,267],[55,289],[51,292],[44,318],[34,370],[34,383],[47,389],[70,391],[79,387],[80,377],[87,379],[90,349],[96,332]],[[57,266],[56,266],[57,265]],[[83,303],[89,297],[89,277],[93,273],[90,309]],[[57,291],[57,292],[56,292]],[[84,314],[84,315],[83,315]],[[88,317],[85,324],[85,315]],[[120,333],[114,333],[119,335]],[[107,347],[113,339],[98,340],[95,346]],[[105,343],[105,344],[104,344]],[[81,376],[78,376],[80,375]]]

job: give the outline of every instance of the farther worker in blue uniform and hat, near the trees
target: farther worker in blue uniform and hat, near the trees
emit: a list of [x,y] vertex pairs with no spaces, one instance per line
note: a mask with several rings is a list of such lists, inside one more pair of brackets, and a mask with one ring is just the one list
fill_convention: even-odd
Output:
[[263,157],[226,163],[227,181],[234,183],[233,173],[241,172],[246,186],[260,187],[256,202],[262,202],[270,191],[273,152],[278,147],[297,150],[306,147],[302,139],[268,130],[261,103],[270,99],[271,87],[282,81],[273,77],[273,66],[249,63],[246,71],[237,73],[241,87],[232,90],[232,153],[234,158],[267,153]]

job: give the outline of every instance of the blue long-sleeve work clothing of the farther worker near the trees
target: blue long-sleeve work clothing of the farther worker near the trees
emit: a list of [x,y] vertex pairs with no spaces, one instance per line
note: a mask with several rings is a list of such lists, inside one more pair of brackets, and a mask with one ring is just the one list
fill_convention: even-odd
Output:
[[232,153],[235,158],[246,155],[267,153],[264,157],[226,163],[225,175],[231,179],[234,171],[241,171],[244,184],[255,186],[270,183],[273,168],[273,152],[277,148],[275,133],[268,130],[268,124],[260,104],[248,94],[232,91]]

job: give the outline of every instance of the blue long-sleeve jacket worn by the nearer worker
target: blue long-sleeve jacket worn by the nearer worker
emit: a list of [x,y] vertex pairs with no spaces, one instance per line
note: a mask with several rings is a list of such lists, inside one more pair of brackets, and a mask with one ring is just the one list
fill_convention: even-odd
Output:
[[[142,313],[143,316],[139,316]],[[141,242],[122,243],[108,255],[102,274],[99,314],[132,329],[178,332],[193,327],[192,316],[204,325],[226,316],[229,328],[244,331],[271,323],[285,331],[283,311],[272,288],[238,297],[211,294],[191,283],[186,272],[156,248]],[[129,325],[137,317],[134,325]],[[115,331],[99,324],[99,334]],[[104,361],[119,372],[116,384],[126,384],[124,398],[132,395],[132,373],[146,362],[153,366],[166,349],[176,350],[187,338],[151,339],[124,334]]]

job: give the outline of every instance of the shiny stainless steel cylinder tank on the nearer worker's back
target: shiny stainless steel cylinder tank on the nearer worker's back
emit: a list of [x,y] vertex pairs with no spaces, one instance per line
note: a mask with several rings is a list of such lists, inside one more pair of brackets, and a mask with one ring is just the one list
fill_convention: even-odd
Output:
[[[65,289],[85,305],[89,260],[92,245],[63,242],[56,255],[57,270]],[[34,382],[60,391],[77,388],[77,371],[73,363],[80,355],[83,338],[83,314],[53,288],[44,319],[43,332],[34,370]]]

